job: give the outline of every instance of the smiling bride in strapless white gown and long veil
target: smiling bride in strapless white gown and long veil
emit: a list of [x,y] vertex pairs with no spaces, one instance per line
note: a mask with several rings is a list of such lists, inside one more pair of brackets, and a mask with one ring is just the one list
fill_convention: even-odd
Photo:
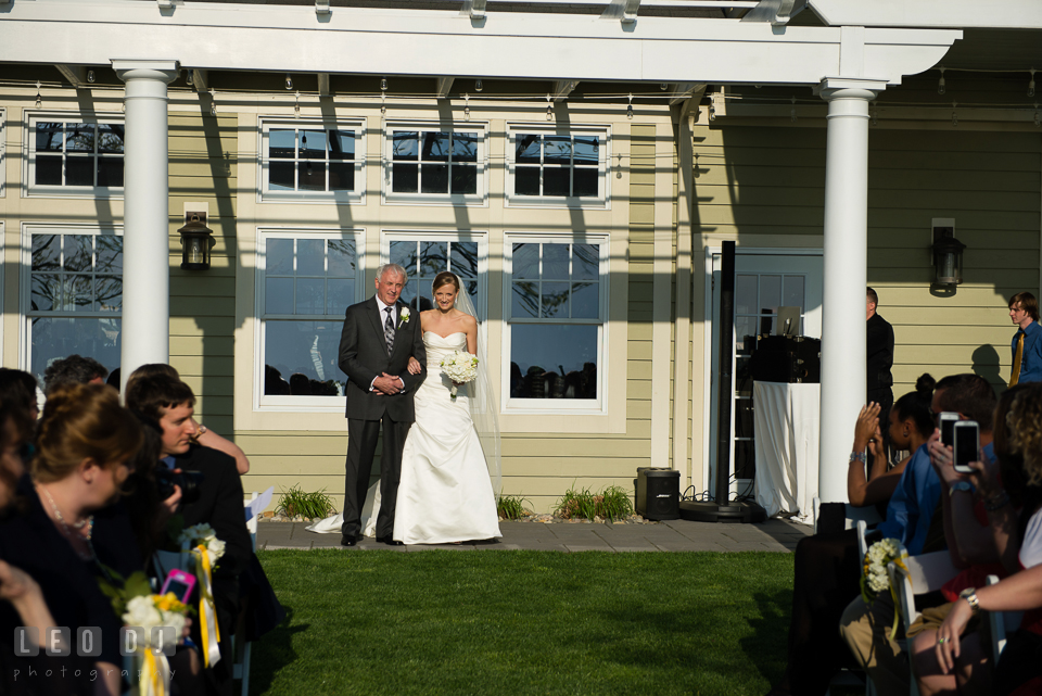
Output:
[[[460,292],[459,278],[440,273],[432,286],[434,308],[420,313],[427,346],[427,379],[415,395],[416,421],[402,453],[393,539],[405,544],[446,544],[501,536],[493,481],[499,479],[498,427],[485,360],[478,353],[473,304]],[[478,379],[458,387],[441,362],[455,351],[479,355]],[[409,371],[420,371],[411,358]],[[380,509],[379,486],[369,489],[364,533],[372,535]],[[369,498],[372,498],[371,503]],[[340,516],[310,531],[340,531]]]

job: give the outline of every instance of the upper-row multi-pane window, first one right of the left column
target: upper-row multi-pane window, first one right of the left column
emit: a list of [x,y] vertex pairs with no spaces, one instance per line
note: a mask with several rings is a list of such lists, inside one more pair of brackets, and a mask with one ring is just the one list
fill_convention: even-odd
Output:
[[[262,128],[262,198],[352,198],[361,186],[363,126],[266,123]],[[357,198],[357,197],[355,197]]]

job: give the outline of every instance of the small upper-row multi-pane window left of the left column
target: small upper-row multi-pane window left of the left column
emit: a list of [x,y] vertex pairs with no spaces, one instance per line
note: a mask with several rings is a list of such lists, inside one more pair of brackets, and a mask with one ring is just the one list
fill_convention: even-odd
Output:
[[30,190],[122,188],[124,131],[122,123],[34,118],[29,135]]

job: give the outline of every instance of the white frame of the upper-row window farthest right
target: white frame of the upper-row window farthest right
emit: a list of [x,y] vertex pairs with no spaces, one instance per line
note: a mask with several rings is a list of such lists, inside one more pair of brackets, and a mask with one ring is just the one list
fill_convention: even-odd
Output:
[[[559,197],[559,195],[518,195],[514,193],[514,175],[517,169],[517,136],[519,134],[538,134],[539,136],[570,136],[594,135],[602,138],[602,145],[598,145],[597,153],[597,195],[596,197]],[[538,122],[507,122],[507,138],[505,156],[505,175],[503,179],[503,197],[505,207],[566,207],[587,210],[611,210],[611,126],[608,124],[558,124]],[[542,151],[542,149],[541,149]],[[522,165],[524,166],[524,165]],[[542,185],[545,164],[539,163],[539,180]],[[569,165],[571,172],[575,166],[582,169],[593,169],[592,166]],[[619,167],[622,165],[620,163]]]

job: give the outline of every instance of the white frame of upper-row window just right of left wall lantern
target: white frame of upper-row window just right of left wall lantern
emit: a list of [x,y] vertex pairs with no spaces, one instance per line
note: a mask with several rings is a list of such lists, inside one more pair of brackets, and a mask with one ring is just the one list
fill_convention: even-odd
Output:
[[[267,156],[268,132],[272,127],[294,130],[305,130],[309,126],[319,126],[322,130],[352,130],[355,134],[355,159],[345,160],[354,165],[355,186],[351,191],[268,191],[268,164],[270,157]],[[368,126],[364,117],[357,118],[292,118],[287,116],[260,116],[257,125],[257,202],[258,203],[321,203],[321,204],[341,204],[354,203],[364,205],[366,202],[366,142],[368,136]],[[328,138],[328,135],[327,135]],[[294,164],[300,164],[302,160],[294,160]],[[316,160],[318,162],[318,160]],[[328,165],[330,160],[321,161]],[[295,170],[296,167],[294,167]]]

